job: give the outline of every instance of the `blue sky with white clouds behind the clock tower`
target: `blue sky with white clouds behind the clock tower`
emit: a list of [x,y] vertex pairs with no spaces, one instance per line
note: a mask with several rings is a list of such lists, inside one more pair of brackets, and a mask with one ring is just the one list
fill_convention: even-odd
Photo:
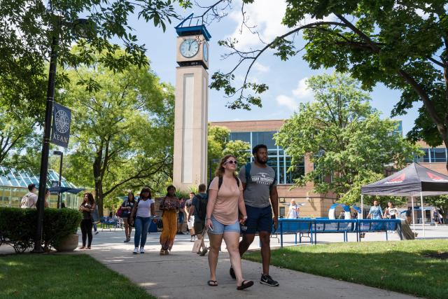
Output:
[[[201,1],[202,6],[206,6],[211,1]],[[176,5],[176,3],[174,4]],[[235,60],[223,60],[222,55],[228,53],[222,46],[218,46],[218,41],[235,38],[239,40],[238,48],[241,50],[258,49],[260,41],[258,36],[251,34],[248,30],[240,32],[241,28],[241,6],[239,0],[235,2],[227,17],[220,22],[212,22],[207,29],[211,34],[209,41],[209,75],[215,71],[229,71],[235,66]],[[257,0],[254,4],[245,6],[248,22],[256,25],[255,31],[260,34],[260,39],[270,41],[275,36],[286,32],[287,28],[281,25],[281,18],[284,15],[286,4],[284,0]],[[203,9],[193,8],[188,10],[178,9],[181,15],[187,16],[190,13],[202,14]],[[130,25],[134,28],[139,39],[139,43],[146,45],[146,55],[151,60],[151,68],[160,77],[161,81],[175,85],[176,78],[176,30],[174,27],[179,21],[169,25],[166,32],[161,28],[153,26],[153,23],[146,23],[138,20],[137,15],[130,19]],[[297,48],[303,43],[302,37],[297,36]],[[236,81],[242,82],[246,68],[236,74]],[[249,74],[251,81],[266,83],[269,90],[262,94],[262,108],[253,106],[251,111],[230,110],[225,104],[230,99],[225,98],[223,91],[209,90],[209,121],[228,120],[269,120],[289,118],[296,111],[298,103],[313,100],[312,93],[307,90],[306,80],[310,76],[318,74],[331,74],[332,69],[312,70],[307,62],[302,60],[302,54],[290,58],[286,62],[281,61],[272,53],[265,53],[260,60],[255,63],[253,70]],[[389,90],[384,85],[377,85],[370,93],[372,106],[382,112],[382,117],[390,117],[393,106],[400,97],[400,91]],[[415,106],[410,109],[405,116],[394,119],[402,120],[403,133],[412,129],[414,119],[418,116]]]

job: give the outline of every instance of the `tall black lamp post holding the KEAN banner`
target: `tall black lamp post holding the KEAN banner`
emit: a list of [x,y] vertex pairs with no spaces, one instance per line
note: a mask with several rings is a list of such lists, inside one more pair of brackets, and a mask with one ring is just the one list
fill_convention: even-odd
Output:
[[[48,73],[47,101],[45,106],[45,123],[43,125],[41,171],[39,174],[39,186],[38,186],[39,190],[37,200],[36,237],[34,238],[35,239],[34,249],[32,251],[36,253],[43,252],[43,248],[41,246],[42,232],[43,232],[43,209],[45,208],[45,188],[47,186],[47,174],[48,174],[48,153],[50,151],[51,114],[53,110],[53,101],[55,99],[55,76],[57,65],[57,46],[59,43],[59,31],[62,25],[72,25],[72,26],[85,25],[87,22],[86,19],[78,19],[74,23],[66,23],[62,22],[62,19],[59,16],[55,16],[55,18],[57,18],[57,25],[53,27],[52,39],[51,39],[50,71]],[[83,33],[83,30],[78,30],[78,32]],[[59,200],[58,200],[58,207],[59,207]]]

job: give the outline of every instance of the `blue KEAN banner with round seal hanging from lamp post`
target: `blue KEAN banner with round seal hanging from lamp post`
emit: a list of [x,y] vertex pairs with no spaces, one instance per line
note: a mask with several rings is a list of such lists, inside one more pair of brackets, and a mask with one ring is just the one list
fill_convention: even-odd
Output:
[[69,147],[71,111],[61,104],[54,103],[51,130],[52,144]]

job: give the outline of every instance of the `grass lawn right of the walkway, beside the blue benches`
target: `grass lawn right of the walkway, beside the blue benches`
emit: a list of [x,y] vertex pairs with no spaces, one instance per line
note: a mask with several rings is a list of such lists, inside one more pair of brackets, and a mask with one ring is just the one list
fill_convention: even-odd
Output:
[[[426,298],[447,298],[447,239],[291,246],[272,251],[272,265]],[[261,262],[259,251],[244,258]],[[446,258],[446,256],[445,256]]]

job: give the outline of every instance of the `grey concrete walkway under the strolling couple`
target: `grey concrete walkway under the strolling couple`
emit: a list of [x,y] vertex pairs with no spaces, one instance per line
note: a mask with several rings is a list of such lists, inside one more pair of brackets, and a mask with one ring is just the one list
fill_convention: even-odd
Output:
[[[124,232],[100,232],[94,235],[92,250],[83,251],[107,267],[130,278],[158,298],[414,298],[359,284],[351,284],[312,274],[271,267],[270,274],[279,287],[260,284],[261,265],[242,261],[244,278],[255,282],[244,291],[237,291],[230,278],[230,260],[225,251],[218,260],[218,286],[207,286],[207,256],[191,253],[190,236],[178,235],[172,254],[159,256],[160,234],[148,235],[145,254],[132,254],[133,243],[123,243]],[[133,240],[133,239],[132,239]],[[275,241],[272,241],[275,245]],[[258,247],[255,239],[252,249]],[[80,251],[78,251],[80,252]]]

